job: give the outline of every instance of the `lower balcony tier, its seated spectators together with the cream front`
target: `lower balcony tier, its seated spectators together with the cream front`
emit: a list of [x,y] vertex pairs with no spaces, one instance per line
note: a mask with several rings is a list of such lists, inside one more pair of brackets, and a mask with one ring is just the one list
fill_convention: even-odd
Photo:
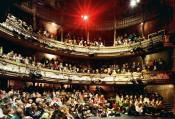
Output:
[[[165,73],[166,62],[162,59],[152,59],[145,65],[141,62],[131,62],[124,64],[104,64],[100,67],[92,67],[89,64],[69,64],[59,60],[44,59],[35,61],[32,57],[23,57],[21,54],[11,51],[3,53],[1,47],[0,69],[13,72],[13,75],[30,76],[34,72],[39,78],[48,81],[93,81],[95,83],[116,82],[131,83],[132,80],[142,79],[169,79],[169,74]],[[150,71],[158,71],[151,73]],[[12,74],[10,74],[12,75]]]

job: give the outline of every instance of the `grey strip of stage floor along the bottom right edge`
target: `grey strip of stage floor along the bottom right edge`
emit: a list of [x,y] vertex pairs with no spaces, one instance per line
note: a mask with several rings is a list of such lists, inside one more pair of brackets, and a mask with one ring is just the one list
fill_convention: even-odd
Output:
[[128,116],[128,115],[121,115],[119,117],[105,117],[105,118],[100,118],[100,117],[90,117],[88,119],[174,119],[174,118],[169,118],[169,117],[152,117],[152,116]]

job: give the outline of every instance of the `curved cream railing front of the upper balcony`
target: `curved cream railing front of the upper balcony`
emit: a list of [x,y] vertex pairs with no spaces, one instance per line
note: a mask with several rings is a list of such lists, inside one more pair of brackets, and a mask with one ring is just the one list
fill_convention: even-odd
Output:
[[32,40],[33,42],[37,42],[40,46],[47,48],[47,49],[52,49],[55,51],[71,51],[76,53],[81,53],[81,54],[115,54],[115,56],[120,55],[121,53],[130,53],[134,48],[142,48],[142,49],[148,49],[157,43],[161,43],[163,40],[163,34],[157,34],[156,36],[153,36],[148,39],[144,39],[143,41],[128,44],[128,45],[118,45],[118,46],[102,46],[102,47],[97,47],[97,46],[79,46],[79,45],[72,45],[72,44],[67,44],[64,42],[56,41],[53,39],[45,38],[42,36],[39,36],[36,33],[31,33],[29,31],[26,31],[24,29],[19,28],[18,26],[12,25],[12,24],[1,24],[0,25],[0,31],[7,33],[8,35],[11,36],[16,36],[18,39],[29,41]]

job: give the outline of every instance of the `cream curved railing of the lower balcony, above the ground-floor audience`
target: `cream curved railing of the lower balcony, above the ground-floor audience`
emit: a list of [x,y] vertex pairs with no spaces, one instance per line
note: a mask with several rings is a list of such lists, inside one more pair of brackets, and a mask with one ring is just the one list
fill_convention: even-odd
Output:
[[36,71],[41,74],[42,78],[38,80],[54,81],[54,82],[95,82],[106,84],[132,84],[132,81],[141,80],[147,82],[149,80],[169,79],[167,72],[128,72],[123,74],[108,75],[108,74],[91,74],[91,73],[75,73],[75,72],[62,72],[58,70],[51,70],[46,68],[34,67],[22,63],[17,63],[0,58],[0,74],[9,75],[14,77],[30,77],[31,72]]

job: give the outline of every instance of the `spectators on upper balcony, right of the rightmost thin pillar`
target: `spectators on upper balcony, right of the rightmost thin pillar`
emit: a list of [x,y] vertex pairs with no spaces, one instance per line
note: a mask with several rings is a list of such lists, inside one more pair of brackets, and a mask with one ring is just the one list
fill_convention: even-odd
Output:
[[124,34],[123,36],[118,36],[116,41],[114,41],[114,46],[118,45],[130,45],[132,43],[141,42],[143,40],[142,37],[136,34]]

